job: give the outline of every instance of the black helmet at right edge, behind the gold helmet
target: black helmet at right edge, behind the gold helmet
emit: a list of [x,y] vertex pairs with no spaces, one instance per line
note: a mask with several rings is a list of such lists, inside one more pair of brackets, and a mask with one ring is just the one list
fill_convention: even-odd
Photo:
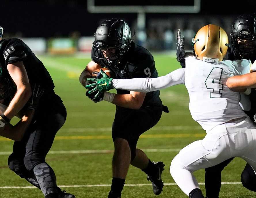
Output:
[[256,56],[256,14],[242,14],[232,25],[231,43],[234,56],[251,59]]

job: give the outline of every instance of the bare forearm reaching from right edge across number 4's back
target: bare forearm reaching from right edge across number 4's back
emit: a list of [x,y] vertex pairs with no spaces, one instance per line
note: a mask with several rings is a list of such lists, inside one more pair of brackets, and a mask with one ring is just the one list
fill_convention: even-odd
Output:
[[232,76],[227,79],[226,85],[234,91],[246,88],[256,88],[256,72]]

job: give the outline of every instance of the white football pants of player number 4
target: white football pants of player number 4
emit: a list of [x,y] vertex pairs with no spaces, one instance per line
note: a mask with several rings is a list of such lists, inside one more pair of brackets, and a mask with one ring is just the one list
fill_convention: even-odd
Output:
[[256,127],[246,118],[237,124],[226,124],[207,131],[202,140],[183,148],[173,158],[170,173],[186,194],[199,188],[193,172],[215,166],[232,157],[240,157],[256,170]]

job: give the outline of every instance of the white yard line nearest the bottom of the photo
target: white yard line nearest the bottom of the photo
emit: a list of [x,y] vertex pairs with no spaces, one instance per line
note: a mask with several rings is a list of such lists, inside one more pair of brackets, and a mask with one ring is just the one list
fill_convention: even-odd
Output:
[[[221,182],[222,185],[236,185],[242,184],[241,182]],[[165,186],[177,186],[176,183],[164,183]],[[205,183],[199,183],[205,185]],[[79,187],[109,187],[110,184],[96,184],[96,185],[59,185],[60,188],[79,188]],[[152,184],[125,184],[124,186],[152,186]],[[2,186],[0,189],[33,189],[35,186]]]

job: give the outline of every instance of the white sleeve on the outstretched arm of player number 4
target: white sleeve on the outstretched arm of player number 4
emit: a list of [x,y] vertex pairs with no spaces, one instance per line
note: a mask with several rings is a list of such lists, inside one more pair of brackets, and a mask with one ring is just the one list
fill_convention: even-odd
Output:
[[158,78],[113,79],[115,89],[134,92],[153,92],[173,85],[184,84],[185,68],[180,68]]

